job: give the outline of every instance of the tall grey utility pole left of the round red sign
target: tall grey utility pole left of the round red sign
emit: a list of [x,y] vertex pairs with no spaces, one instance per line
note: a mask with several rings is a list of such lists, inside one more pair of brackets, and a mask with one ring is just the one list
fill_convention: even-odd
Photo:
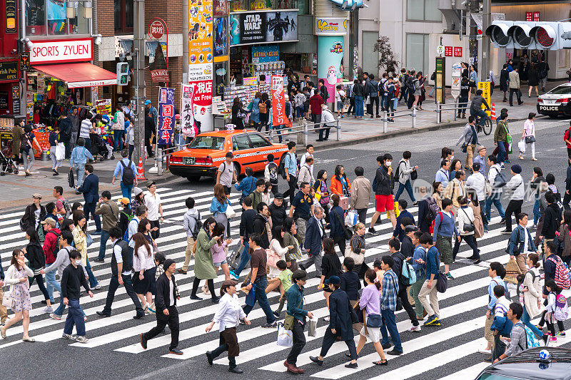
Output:
[[135,57],[135,80],[133,81],[133,97],[136,99],[136,111],[133,143],[133,162],[138,165],[139,158],[143,158],[143,172],[145,169],[145,0],[135,0],[135,22],[133,25],[133,53]]

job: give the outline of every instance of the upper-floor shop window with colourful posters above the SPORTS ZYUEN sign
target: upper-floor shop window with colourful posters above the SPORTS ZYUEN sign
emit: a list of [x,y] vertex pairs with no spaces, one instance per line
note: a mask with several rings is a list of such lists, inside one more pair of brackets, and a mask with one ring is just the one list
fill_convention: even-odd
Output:
[[76,2],[74,17],[67,19],[65,0],[26,0],[28,36],[88,34],[90,22],[85,18],[83,3]]

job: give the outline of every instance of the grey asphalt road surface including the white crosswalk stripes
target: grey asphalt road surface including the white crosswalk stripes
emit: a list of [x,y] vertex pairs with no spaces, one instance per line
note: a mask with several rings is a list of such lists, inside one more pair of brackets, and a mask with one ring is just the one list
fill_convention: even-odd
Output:
[[[565,179],[566,150],[562,142],[562,134],[567,128],[566,120],[551,120],[541,118],[536,121],[537,135],[537,158],[539,161],[532,162],[528,155],[526,160],[517,160],[517,153],[511,155],[512,163],[522,165],[522,174],[528,180],[531,177],[532,168],[540,166],[544,174],[553,173],[557,179],[556,185],[563,189]],[[510,131],[514,141],[520,138],[522,122],[512,123]],[[461,134],[461,129],[438,130],[429,133],[410,135],[410,137],[394,138],[375,143],[348,146],[347,148],[336,148],[323,150],[315,153],[317,159],[315,173],[320,168],[328,170],[333,175],[335,165],[345,166],[346,173],[350,180],[353,180],[353,169],[355,166],[363,166],[365,176],[372,179],[374,170],[377,167],[375,158],[378,155],[389,152],[393,154],[395,164],[402,157],[403,150],[410,150],[413,153],[411,163],[419,165],[419,178],[432,182],[434,174],[438,169],[438,158],[440,149],[443,146],[454,145]],[[493,148],[492,136],[480,136],[480,142],[487,146],[488,152]],[[516,148],[517,149],[517,148]],[[303,149],[298,150],[303,153]],[[457,147],[455,155],[464,158]],[[509,165],[508,165],[509,167]],[[509,174],[509,173],[508,173]],[[169,257],[176,259],[178,267],[183,261],[183,250],[185,243],[181,237],[181,227],[179,221],[185,211],[183,199],[187,194],[196,195],[201,199],[201,205],[207,209],[210,195],[206,192],[212,190],[212,180],[204,179],[200,183],[188,183],[186,179],[173,180],[163,185],[166,197],[163,195],[163,202],[168,203],[168,215],[161,239],[158,240],[159,248],[166,252]],[[281,183],[281,191],[285,190],[285,183]],[[200,195],[205,192],[203,195]],[[198,196],[200,195],[200,196]],[[176,199],[180,197],[181,199]],[[403,195],[408,199],[408,195]],[[525,202],[524,210],[531,212],[532,204]],[[208,212],[203,211],[203,217]],[[416,212],[413,212],[416,216]],[[370,210],[368,217],[372,215]],[[388,367],[371,366],[370,362],[375,359],[372,344],[367,344],[359,363],[358,371],[345,372],[345,346],[335,345],[331,349],[331,354],[325,361],[323,367],[308,364],[307,356],[315,354],[315,349],[321,345],[323,332],[316,339],[308,341],[303,353],[300,355],[298,364],[305,369],[306,374],[317,378],[340,378],[345,376],[359,376],[363,379],[370,379],[381,376],[380,379],[440,379],[449,376],[448,379],[463,377],[471,379],[482,364],[482,354],[477,354],[483,334],[483,318],[485,313],[485,286],[487,286],[487,272],[485,270],[486,261],[494,261],[497,257],[502,257],[501,262],[505,262],[505,235],[499,235],[502,227],[497,223],[497,213],[495,225],[490,228],[490,234],[482,238],[480,248],[482,249],[482,267],[470,265],[468,260],[458,260],[453,266],[453,274],[457,279],[449,282],[447,293],[439,294],[440,309],[443,311],[443,327],[423,327],[420,333],[403,332],[400,334],[404,343],[405,355],[395,359],[390,359]],[[0,213],[0,254],[4,269],[9,266],[9,256],[13,247],[20,247],[24,244],[21,232],[17,228],[19,216]],[[92,226],[91,226],[92,227]],[[374,258],[386,252],[386,242],[389,223],[383,219],[383,225],[377,227],[385,235],[380,237],[368,236],[369,251],[366,262],[373,262]],[[237,235],[237,228],[233,227],[233,237]],[[89,256],[96,256],[98,248],[98,238],[95,244],[90,247]],[[468,257],[471,252],[462,245],[460,256]],[[39,377],[60,378],[60,379],[227,379],[227,361],[223,356],[219,364],[213,367],[208,366],[203,352],[206,349],[216,348],[218,333],[205,334],[203,327],[211,320],[211,315],[216,307],[211,306],[208,299],[198,302],[188,302],[188,287],[191,284],[192,276],[177,275],[179,286],[185,286],[182,293],[186,301],[179,307],[181,314],[187,313],[184,322],[181,322],[181,344],[179,348],[189,353],[188,359],[176,360],[170,357],[163,357],[168,353],[168,335],[157,338],[157,346],[151,346],[144,352],[139,352],[137,342],[138,333],[145,332],[154,324],[154,317],[148,316],[142,321],[131,319],[133,312],[132,304],[126,299],[124,292],[116,295],[117,308],[113,309],[111,319],[97,319],[94,315],[96,310],[103,307],[103,299],[106,296],[106,284],[110,275],[109,255],[107,252],[106,263],[93,265],[96,277],[103,282],[103,289],[96,292],[96,300],[82,298],[81,303],[88,314],[87,337],[91,339],[91,345],[81,346],[80,344],[70,344],[68,341],[59,339],[63,329],[61,322],[52,321],[46,314],[39,314],[38,310],[32,312],[31,336],[39,339],[34,344],[21,343],[21,327],[9,329],[8,339],[0,342],[0,366],[2,374],[10,379],[33,379]],[[373,254],[374,253],[374,254]],[[313,270],[313,267],[310,269]],[[244,273],[245,274],[245,273]],[[315,274],[315,272],[310,273]],[[218,277],[220,281],[220,277]],[[308,284],[305,294],[307,308],[310,310],[320,309],[320,316],[325,312],[325,300],[320,296],[321,292],[316,289],[317,282]],[[218,282],[216,288],[220,286]],[[32,287],[32,297],[34,309],[39,309],[39,291],[34,285]],[[120,288],[121,291],[121,288]],[[201,294],[199,294],[201,295]],[[277,293],[271,296],[271,305],[275,308]],[[487,296],[485,296],[487,299]],[[118,302],[125,301],[121,304]],[[276,346],[276,331],[261,329],[259,326],[263,322],[259,307],[253,310],[253,324],[251,327],[240,327],[238,329],[238,340],[241,342],[241,356],[238,356],[238,364],[245,371],[243,375],[234,375],[242,379],[289,379],[290,374],[282,372],[285,368],[281,362],[287,356],[288,349]],[[282,314],[283,316],[283,314]],[[410,322],[406,315],[400,312],[397,315],[400,330],[408,329]],[[140,326],[144,324],[144,326]],[[568,326],[568,323],[567,327]],[[324,327],[325,322],[320,320],[318,329]],[[402,327],[402,328],[401,328]],[[215,328],[216,330],[216,328]],[[240,334],[242,333],[242,335]],[[161,340],[162,339],[162,340]],[[160,342],[159,342],[160,340]],[[163,342],[164,341],[164,342]],[[562,339],[560,339],[562,341]],[[565,341],[563,341],[565,342]],[[567,344],[565,346],[568,346]],[[153,348],[154,347],[154,348]],[[120,351],[116,351],[120,350]],[[365,356],[365,357],[363,357]],[[223,364],[223,365],[220,365]],[[373,368],[374,367],[374,368]],[[459,372],[459,371],[463,372]],[[308,376],[308,375],[305,375]],[[470,377],[471,376],[471,377]]]

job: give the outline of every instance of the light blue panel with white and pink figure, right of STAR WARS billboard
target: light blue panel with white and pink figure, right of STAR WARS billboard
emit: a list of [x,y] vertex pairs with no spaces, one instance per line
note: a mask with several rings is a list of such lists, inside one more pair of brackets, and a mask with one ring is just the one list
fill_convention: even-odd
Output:
[[327,103],[335,101],[335,86],[343,58],[343,37],[318,36],[317,38],[317,78],[325,81],[329,93]]

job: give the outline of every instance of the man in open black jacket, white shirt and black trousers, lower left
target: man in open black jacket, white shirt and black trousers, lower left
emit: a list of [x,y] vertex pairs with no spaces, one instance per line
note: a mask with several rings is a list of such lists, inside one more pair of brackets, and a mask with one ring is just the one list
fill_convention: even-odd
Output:
[[141,346],[147,349],[147,342],[158,334],[161,334],[168,324],[171,329],[171,345],[168,347],[169,354],[182,355],[183,351],[178,349],[178,310],[176,309],[176,281],[174,272],[176,272],[176,264],[171,259],[166,259],[163,263],[165,272],[156,280],[156,327],[144,334],[140,334]]

